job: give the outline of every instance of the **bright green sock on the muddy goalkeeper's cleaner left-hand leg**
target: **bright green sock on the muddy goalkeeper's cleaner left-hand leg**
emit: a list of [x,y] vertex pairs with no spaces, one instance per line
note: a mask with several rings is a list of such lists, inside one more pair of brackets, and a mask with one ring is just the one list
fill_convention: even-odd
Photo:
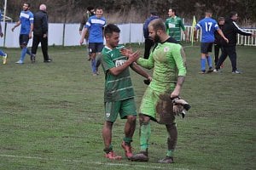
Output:
[[150,124],[148,123],[143,123],[141,128],[140,128],[140,145],[141,145],[141,150],[146,151],[148,149],[148,140],[151,134],[151,128]]

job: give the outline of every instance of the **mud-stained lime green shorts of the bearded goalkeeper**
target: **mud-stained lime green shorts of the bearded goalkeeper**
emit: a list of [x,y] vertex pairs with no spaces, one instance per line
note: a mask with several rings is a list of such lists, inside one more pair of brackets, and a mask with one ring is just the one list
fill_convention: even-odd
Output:
[[149,116],[151,120],[162,124],[174,123],[175,116],[170,94],[171,91],[157,93],[152,88],[147,88],[140,106],[140,114]]

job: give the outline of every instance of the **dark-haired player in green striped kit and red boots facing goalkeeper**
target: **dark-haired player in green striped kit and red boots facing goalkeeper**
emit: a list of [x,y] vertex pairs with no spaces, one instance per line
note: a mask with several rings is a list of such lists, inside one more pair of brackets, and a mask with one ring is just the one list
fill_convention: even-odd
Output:
[[121,119],[127,119],[125,123],[125,138],[121,146],[125,150],[125,156],[130,159],[132,156],[131,142],[136,127],[136,105],[134,100],[134,90],[131,84],[129,67],[138,74],[151,79],[147,72],[143,71],[134,61],[139,57],[139,53],[129,54],[129,58],[120,54],[119,27],[109,24],[104,28],[106,46],[102,49],[102,68],[105,72],[105,119],[102,129],[102,137],[105,144],[105,157],[110,160],[119,160],[121,156],[115,155],[112,146],[113,122],[118,115]]

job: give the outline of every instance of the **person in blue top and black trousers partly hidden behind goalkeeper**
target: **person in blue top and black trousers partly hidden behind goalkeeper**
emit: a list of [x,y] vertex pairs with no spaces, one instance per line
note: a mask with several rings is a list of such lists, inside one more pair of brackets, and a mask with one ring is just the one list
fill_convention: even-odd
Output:
[[149,32],[148,32],[148,24],[151,20],[158,19],[159,17],[157,16],[156,12],[152,11],[150,16],[148,17],[147,20],[145,20],[145,23],[143,25],[143,35],[145,38],[145,48],[144,48],[144,59],[148,59],[149,54],[150,54],[150,49],[154,46],[153,40],[148,37]]

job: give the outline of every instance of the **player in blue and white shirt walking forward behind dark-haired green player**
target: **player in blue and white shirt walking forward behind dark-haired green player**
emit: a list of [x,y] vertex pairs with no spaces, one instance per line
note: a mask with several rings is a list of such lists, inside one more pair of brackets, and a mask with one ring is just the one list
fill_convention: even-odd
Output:
[[91,62],[91,70],[93,76],[97,76],[98,73],[98,66],[100,62],[96,61],[96,54],[100,54],[102,52],[103,46],[103,28],[106,26],[106,19],[102,17],[103,9],[96,8],[96,15],[90,16],[89,20],[86,22],[84,26],[84,30],[82,32],[82,36],[80,39],[80,44],[84,42],[84,36],[86,35],[87,31],[90,32],[89,34],[89,53],[90,53],[90,62]]

